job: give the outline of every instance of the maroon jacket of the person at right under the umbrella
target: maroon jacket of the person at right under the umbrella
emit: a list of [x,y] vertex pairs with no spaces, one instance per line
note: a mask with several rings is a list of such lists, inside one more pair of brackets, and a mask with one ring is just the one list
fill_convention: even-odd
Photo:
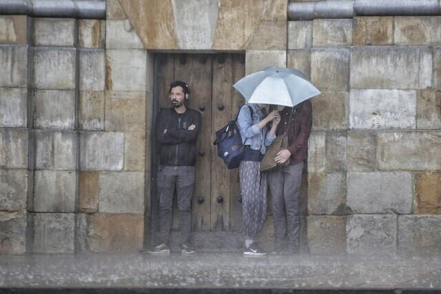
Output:
[[293,112],[291,130],[287,132],[289,147],[291,152],[290,165],[296,165],[307,158],[308,138],[312,125],[312,107],[309,100],[296,105],[295,107],[285,107],[280,114],[277,136],[285,133],[288,127],[289,114]]

